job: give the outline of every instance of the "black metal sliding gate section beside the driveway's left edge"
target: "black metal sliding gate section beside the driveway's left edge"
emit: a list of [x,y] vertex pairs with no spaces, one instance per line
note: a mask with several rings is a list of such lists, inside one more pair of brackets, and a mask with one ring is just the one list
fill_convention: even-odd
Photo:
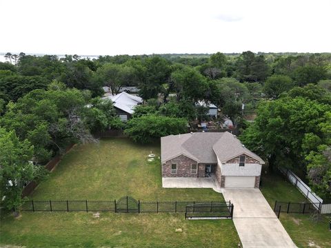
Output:
[[194,203],[185,207],[185,219],[232,218],[233,204],[225,203]]

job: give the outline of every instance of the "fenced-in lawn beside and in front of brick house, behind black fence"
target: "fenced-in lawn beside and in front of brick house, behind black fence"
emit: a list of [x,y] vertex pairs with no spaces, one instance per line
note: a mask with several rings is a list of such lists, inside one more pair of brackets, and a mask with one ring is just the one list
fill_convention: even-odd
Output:
[[[155,161],[148,162],[148,154]],[[160,144],[127,138],[102,139],[74,147],[32,194],[34,200],[223,200],[212,189],[163,189]]]

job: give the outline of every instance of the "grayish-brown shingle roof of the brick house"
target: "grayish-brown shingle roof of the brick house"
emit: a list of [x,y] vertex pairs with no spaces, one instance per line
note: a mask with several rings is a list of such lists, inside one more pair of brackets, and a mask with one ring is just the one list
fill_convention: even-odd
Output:
[[190,134],[169,135],[161,138],[161,162],[185,155],[198,163],[221,163],[241,154],[264,161],[245,148],[236,136],[229,132],[196,132]]

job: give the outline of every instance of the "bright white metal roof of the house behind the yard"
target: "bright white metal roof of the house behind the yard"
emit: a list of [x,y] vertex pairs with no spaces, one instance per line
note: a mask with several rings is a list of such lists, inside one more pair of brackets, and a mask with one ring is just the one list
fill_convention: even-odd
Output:
[[143,99],[141,99],[141,97],[132,96],[131,94],[128,94],[126,92],[122,92],[115,96],[106,96],[103,97],[103,99],[112,100],[112,104],[114,105],[114,107],[117,107],[118,109],[123,110],[128,114],[133,114],[134,107],[139,103],[143,102]]

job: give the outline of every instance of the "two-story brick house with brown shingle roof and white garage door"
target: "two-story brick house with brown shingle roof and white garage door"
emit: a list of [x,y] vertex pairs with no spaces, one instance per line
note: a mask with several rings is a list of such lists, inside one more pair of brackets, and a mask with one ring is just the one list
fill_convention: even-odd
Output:
[[259,187],[264,161],[230,132],[161,138],[162,177],[215,178],[220,187]]

